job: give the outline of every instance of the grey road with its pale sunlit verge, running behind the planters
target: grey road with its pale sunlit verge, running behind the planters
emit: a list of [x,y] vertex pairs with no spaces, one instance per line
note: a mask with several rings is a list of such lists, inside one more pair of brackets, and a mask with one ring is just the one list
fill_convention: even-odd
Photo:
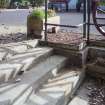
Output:
[[[0,13],[0,33],[4,31],[7,33],[8,30],[10,32],[26,32],[26,24],[27,24],[27,15],[31,10],[1,10]],[[69,25],[78,25],[83,21],[82,13],[57,13],[57,15],[61,18],[61,24],[69,24]],[[91,19],[92,20],[92,19]],[[18,29],[17,29],[18,27]],[[64,28],[65,29],[65,28]],[[69,29],[74,32],[82,32],[82,28],[79,29]],[[92,34],[99,34],[95,27],[91,27]]]

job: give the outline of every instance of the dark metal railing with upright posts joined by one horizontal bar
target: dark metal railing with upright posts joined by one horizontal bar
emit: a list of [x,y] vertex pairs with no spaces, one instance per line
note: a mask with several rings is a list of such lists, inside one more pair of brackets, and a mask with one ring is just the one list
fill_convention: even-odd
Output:
[[50,24],[47,23],[47,10],[48,10],[48,0],[45,0],[45,37],[44,40],[47,41],[47,26],[60,26],[60,27],[68,27],[68,28],[78,28],[83,26],[83,38],[86,38],[87,44],[89,44],[90,40],[90,25],[94,25],[90,23],[90,13],[91,13],[91,0],[83,1],[83,23],[79,25],[61,25],[61,24]]

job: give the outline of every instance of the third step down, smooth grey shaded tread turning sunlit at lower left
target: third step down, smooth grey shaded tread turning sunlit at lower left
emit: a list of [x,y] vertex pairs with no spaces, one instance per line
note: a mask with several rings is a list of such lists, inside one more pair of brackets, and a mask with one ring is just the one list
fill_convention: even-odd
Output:
[[52,72],[53,69],[61,68],[65,61],[66,57],[51,56],[42,63],[33,67],[32,70],[20,77],[21,81],[16,83],[15,87],[0,94],[0,102],[5,102],[8,100],[11,104],[16,104],[20,98],[23,98],[23,95],[26,94],[25,92],[30,87],[34,89],[37,88],[46,77],[49,78],[49,73]]

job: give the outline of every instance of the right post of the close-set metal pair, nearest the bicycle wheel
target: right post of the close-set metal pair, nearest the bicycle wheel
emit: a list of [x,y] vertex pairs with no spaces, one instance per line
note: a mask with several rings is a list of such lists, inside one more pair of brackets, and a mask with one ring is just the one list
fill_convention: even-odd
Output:
[[87,0],[87,14],[88,14],[88,19],[87,19],[87,44],[89,44],[90,40],[90,13],[91,13],[91,0]]

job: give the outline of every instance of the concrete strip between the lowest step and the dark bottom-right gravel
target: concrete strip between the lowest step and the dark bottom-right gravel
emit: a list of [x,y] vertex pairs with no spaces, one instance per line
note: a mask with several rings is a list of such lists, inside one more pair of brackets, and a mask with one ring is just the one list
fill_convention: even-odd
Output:
[[75,96],[70,100],[67,105],[90,105],[89,104],[89,94],[91,94],[91,89],[88,87],[93,86],[95,88],[93,78],[85,78],[80,88],[76,92]]

